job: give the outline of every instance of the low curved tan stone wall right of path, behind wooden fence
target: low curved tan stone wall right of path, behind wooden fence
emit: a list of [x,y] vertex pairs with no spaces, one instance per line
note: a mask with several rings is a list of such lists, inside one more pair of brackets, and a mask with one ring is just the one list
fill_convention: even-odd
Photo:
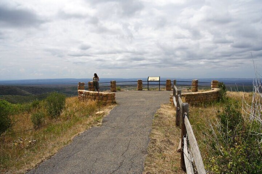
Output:
[[[184,97],[185,99],[185,103],[189,103],[192,105],[216,101],[218,99],[218,96],[219,96],[219,88],[213,88],[210,91],[204,91],[204,92],[192,92],[192,93],[182,94],[182,97]],[[173,94],[170,95],[170,103],[172,105],[174,104]]]

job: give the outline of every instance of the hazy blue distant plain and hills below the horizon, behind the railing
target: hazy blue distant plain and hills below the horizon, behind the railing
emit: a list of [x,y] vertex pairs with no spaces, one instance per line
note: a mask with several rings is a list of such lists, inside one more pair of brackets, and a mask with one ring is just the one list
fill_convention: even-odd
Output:
[[[148,87],[147,78],[140,78],[143,81],[143,87]],[[181,79],[181,78],[161,78],[160,85],[163,87],[166,84],[166,79],[176,79],[177,86],[184,86],[186,88],[191,87],[192,79]],[[11,103],[25,103],[33,100],[45,99],[50,92],[56,91],[63,93],[67,96],[78,95],[77,86],[78,82],[88,83],[92,79],[35,79],[35,80],[0,80],[0,99],[5,99]],[[136,88],[137,78],[132,79],[110,79],[101,78],[100,89],[110,90],[110,81],[115,80],[116,86],[122,89],[129,90]],[[218,79],[198,79],[199,87],[211,87],[211,81],[218,80],[226,85],[229,91],[252,91],[253,90],[253,79],[243,78],[218,78]],[[158,88],[159,82],[149,82],[150,87]],[[86,85],[87,89],[88,86]]]

